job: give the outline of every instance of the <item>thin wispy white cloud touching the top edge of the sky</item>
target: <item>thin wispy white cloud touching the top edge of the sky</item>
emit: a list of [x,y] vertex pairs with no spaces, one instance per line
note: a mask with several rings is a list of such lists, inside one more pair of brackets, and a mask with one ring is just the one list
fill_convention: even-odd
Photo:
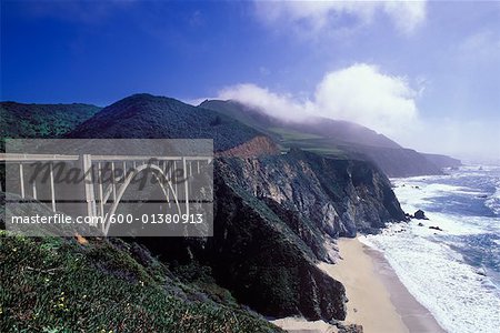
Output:
[[293,28],[296,32],[309,37],[342,29],[342,18],[354,19],[354,26],[370,24],[378,12],[390,19],[400,33],[408,34],[424,22],[426,8],[426,0],[256,1],[257,16],[263,22],[281,24],[287,30]]

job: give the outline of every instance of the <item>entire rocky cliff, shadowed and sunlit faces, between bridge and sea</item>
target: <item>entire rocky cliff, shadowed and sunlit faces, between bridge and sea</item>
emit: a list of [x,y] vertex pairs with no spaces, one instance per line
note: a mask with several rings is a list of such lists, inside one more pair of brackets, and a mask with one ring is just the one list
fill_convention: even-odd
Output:
[[336,260],[339,235],[404,219],[388,179],[367,162],[299,150],[221,158],[214,184],[214,235],[190,253],[239,302],[270,316],[343,320],[344,287],[317,260]]

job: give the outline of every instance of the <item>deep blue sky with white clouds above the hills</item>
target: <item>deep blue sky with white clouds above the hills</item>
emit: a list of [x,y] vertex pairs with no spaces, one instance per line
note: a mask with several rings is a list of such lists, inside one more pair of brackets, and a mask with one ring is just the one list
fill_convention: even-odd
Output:
[[500,157],[499,91],[493,1],[1,2],[1,100],[232,98],[477,158]]

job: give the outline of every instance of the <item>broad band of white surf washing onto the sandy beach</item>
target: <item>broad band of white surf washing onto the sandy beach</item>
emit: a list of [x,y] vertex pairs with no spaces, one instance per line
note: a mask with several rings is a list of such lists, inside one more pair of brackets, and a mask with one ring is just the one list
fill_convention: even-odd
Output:
[[497,332],[500,296],[488,276],[466,264],[444,243],[393,225],[379,235],[361,236],[381,250],[409,292],[448,332]]

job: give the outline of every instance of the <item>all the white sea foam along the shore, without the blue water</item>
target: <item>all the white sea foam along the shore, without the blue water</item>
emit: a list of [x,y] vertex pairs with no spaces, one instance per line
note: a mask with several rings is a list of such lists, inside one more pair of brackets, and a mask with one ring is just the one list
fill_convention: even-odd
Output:
[[[431,209],[437,204],[436,198],[451,193],[470,195],[471,199],[490,195],[484,204],[492,211],[500,209],[500,183],[494,194],[483,193],[478,188],[436,183],[440,180],[470,179],[469,172],[480,180],[483,171],[490,170],[466,167],[443,176],[392,179],[403,210],[413,213],[423,209],[430,220],[419,221],[424,226],[419,226],[417,221],[396,223],[381,234],[360,238],[367,245],[384,253],[409,292],[444,330],[452,333],[498,332],[500,323],[500,293],[491,276],[484,276],[484,270],[467,264],[446,241],[447,236],[498,234],[500,218],[468,216]],[[438,225],[443,231],[429,229],[430,225]]]

